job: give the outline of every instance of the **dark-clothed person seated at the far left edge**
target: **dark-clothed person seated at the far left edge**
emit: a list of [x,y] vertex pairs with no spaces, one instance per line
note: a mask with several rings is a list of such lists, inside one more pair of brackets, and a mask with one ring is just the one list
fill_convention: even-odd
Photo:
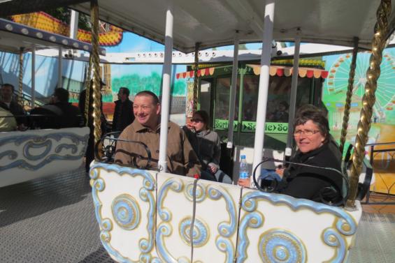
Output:
[[15,88],[12,84],[5,83],[1,85],[1,100],[0,107],[8,112],[11,112],[16,118],[17,125],[22,126],[27,124],[27,119],[25,118],[26,112],[24,112],[21,105],[14,100]]

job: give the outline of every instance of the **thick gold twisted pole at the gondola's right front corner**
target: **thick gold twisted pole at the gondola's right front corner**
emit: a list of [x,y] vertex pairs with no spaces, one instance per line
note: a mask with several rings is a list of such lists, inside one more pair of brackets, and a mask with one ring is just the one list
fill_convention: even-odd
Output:
[[391,15],[391,0],[382,0],[376,15],[378,22],[375,24],[375,35],[372,40],[371,65],[366,72],[367,82],[365,85],[365,94],[362,98],[361,117],[357,126],[357,137],[355,138],[355,150],[352,154],[350,194],[346,203],[346,206],[350,209],[355,207],[359,174],[361,174],[362,161],[365,156],[365,145],[368,141],[368,133],[371,128],[373,105],[375,105],[375,91],[377,89],[378,78],[380,77],[382,50],[385,47],[385,37],[388,33],[388,19],[389,15]]

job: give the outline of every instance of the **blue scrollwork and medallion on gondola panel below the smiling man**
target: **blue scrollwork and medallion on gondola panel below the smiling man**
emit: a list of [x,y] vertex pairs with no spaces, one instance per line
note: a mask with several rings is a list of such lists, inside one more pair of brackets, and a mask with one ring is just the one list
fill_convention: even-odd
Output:
[[[103,219],[101,217],[102,204],[99,199],[99,192],[105,190],[106,188],[105,183],[100,176],[101,170],[105,170],[106,172],[116,172],[120,176],[124,176],[125,174],[127,174],[132,177],[143,177],[143,187],[139,191],[139,197],[144,202],[148,202],[150,204],[147,217],[151,220],[148,220],[147,224],[148,238],[141,239],[139,241],[139,248],[141,250],[141,254],[139,255],[139,259],[137,261],[122,256],[117,250],[113,248],[113,246],[110,245],[110,232],[111,230],[113,230],[113,226],[108,218]],[[94,163],[89,174],[92,179],[92,196],[95,206],[96,220],[101,227],[101,243],[103,243],[103,246],[106,248],[108,253],[115,257],[118,262],[152,262],[150,252],[154,247],[155,241],[155,197],[152,194],[152,192],[155,190],[155,180],[152,175],[144,170],[132,169],[130,167],[120,167],[118,165],[109,165],[103,163]],[[115,219],[117,225],[122,225],[123,229],[129,231],[134,230],[137,227],[139,221],[137,220],[137,214],[139,214],[138,217],[140,217],[141,211],[138,208],[138,203],[136,202],[136,200],[134,200],[133,197],[131,197],[130,195],[120,195],[116,197],[115,200],[113,200],[112,207],[113,217],[117,217],[117,219]]]

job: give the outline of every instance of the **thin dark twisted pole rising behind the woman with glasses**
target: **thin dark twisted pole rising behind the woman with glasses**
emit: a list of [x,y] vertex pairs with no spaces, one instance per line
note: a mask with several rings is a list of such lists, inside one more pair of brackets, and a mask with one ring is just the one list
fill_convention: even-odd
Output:
[[355,67],[357,65],[358,41],[359,41],[359,38],[355,37],[354,38],[354,50],[352,50],[352,61],[351,61],[351,65],[350,65],[350,74],[348,75],[348,86],[347,86],[347,96],[345,98],[345,105],[344,105],[343,126],[342,126],[341,136],[340,136],[340,152],[341,153],[343,153],[343,150],[344,150],[345,137],[347,136],[348,120],[350,119],[352,89],[354,88]]

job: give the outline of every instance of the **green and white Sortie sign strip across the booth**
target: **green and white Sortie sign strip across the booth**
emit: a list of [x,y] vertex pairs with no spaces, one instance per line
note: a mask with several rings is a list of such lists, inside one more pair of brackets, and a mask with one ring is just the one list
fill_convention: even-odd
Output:
[[[228,121],[224,119],[215,120],[215,129],[217,130],[227,130]],[[234,121],[234,130],[237,129],[238,121]],[[257,126],[256,121],[243,121],[241,123],[241,131],[243,133],[254,133],[255,127]],[[288,123],[280,122],[266,122],[265,123],[265,133],[288,133]]]

